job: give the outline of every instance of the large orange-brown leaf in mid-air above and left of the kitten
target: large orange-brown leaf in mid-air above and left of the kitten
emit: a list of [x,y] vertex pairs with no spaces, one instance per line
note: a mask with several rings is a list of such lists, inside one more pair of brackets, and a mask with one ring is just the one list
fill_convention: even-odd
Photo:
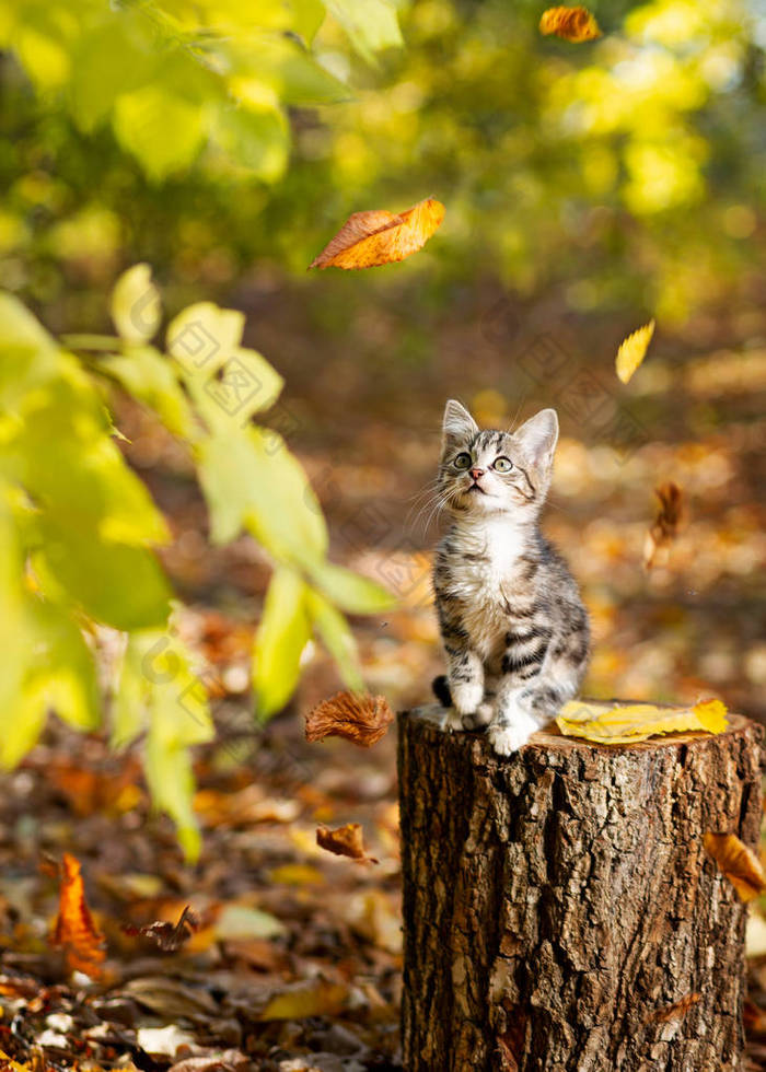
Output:
[[398,214],[355,212],[309,267],[374,268],[404,260],[426,245],[443,219],[444,206],[432,197]]

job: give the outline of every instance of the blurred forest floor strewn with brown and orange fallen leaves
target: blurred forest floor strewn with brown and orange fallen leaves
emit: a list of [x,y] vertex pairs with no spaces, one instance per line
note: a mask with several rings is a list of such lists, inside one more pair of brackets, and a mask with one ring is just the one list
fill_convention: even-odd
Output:
[[[488,420],[514,413],[478,385],[454,389],[460,346],[441,357],[446,386],[432,377],[426,384],[415,371],[411,394],[398,387],[393,397],[392,385],[406,377],[398,370],[395,381],[381,369],[378,401],[374,385],[360,400],[347,362],[315,360],[303,369],[303,394],[297,388],[287,400],[295,424],[290,441],[322,499],[335,560],[401,596],[396,611],[353,626],[370,689],[403,709],[429,698],[441,667],[428,593],[436,527],[417,496],[433,473],[445,392],[452,386]],[[766,518],[756,505],[763,430],[754,432],[751,419],[754,369],[756,383],[766,378],[763,351],[730,360],[710,354],[687,368],[686,426],[676,413],[666,435],[647,438],[624,458],[597,435],[577,435],[574,418],[565,420],[546,527],[591,610],[590,695],[674,702],[720,696],[732,710],[766,713],[754,582],[766,554]],[[291,382],[290,369],[282,371]],[[491,356],[485,375],[491,382]],[[543,394],[527,393],[524,416],[545,404]],[[713,395],[721,421],[710,417]],[[658,362],[636,400],[645,423],[651,415],[651,427],[662,426],[675,405],[666,396]],[[431,400],[423,405],[423,397]],[[320,417],[330,407],[338,415],[332,428]],[[187,604],[181,628],[207,659],[216,697],[219,738],[200,749],[196,770],[202,855],[194,867],[183,863],[171,825],[151,813],[137,756],[109,754],[101,734],[51,726],[3,776],[0,1052],[19,1063],[0,1058],[0,1067],[398,1069],[395,731],[370,750],[336,739],[305,743],[302,715],[339,688],[332,662],[314,645],[288,710],[254,730],[249,650],[268,562],[245,537],[211,550],[187,461],[138,411],[121,418],[131,461],[171,520],[174,541],[164,561]],[[664,480],[682,486],[686,522],[647,573],[653,489]],[[348,822],[362,824],[378,863],[317,848],[318,824]],[[81,861],[106,936],[107,958],[94,981],[68,974],[49,942],[58,906],[50,858],[63,852]],[[175,951],[126,933],[175,923],[186,906],[199,925]],[[748,1069],[756,1070],[766,1069],[766,957],[751,965]]]

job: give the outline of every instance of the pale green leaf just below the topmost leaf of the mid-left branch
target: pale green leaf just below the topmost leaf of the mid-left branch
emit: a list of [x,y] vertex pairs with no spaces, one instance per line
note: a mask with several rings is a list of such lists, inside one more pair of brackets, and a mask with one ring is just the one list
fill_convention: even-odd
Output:
[[104,358],[98,368],[106,369],[134,398],[153,409],[174,435],[195,438],[194,413],[170,358],[153,347],[130,346],[121,354]]

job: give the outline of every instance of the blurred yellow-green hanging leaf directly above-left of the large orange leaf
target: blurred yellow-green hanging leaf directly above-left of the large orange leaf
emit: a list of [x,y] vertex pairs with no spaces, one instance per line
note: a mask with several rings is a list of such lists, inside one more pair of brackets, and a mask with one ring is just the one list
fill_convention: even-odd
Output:
[[283,175],[290,132],[278,108],[258,112],[245,107],[219,108],[211,133],[221,151],[256,178],[274,183]]

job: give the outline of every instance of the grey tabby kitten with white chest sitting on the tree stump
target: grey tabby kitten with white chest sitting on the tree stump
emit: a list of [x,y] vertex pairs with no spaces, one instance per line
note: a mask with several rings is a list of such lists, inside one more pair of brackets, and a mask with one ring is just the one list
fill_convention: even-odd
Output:
[[538,527],[558,440],[556,410],[515,432],[480,431],[444,409],[439,501],[452,524],[433,586],[446,678],[433,683],[454,730],[489,726],[501,756],[526,744],[577,692],[590,630],[577,583]]

